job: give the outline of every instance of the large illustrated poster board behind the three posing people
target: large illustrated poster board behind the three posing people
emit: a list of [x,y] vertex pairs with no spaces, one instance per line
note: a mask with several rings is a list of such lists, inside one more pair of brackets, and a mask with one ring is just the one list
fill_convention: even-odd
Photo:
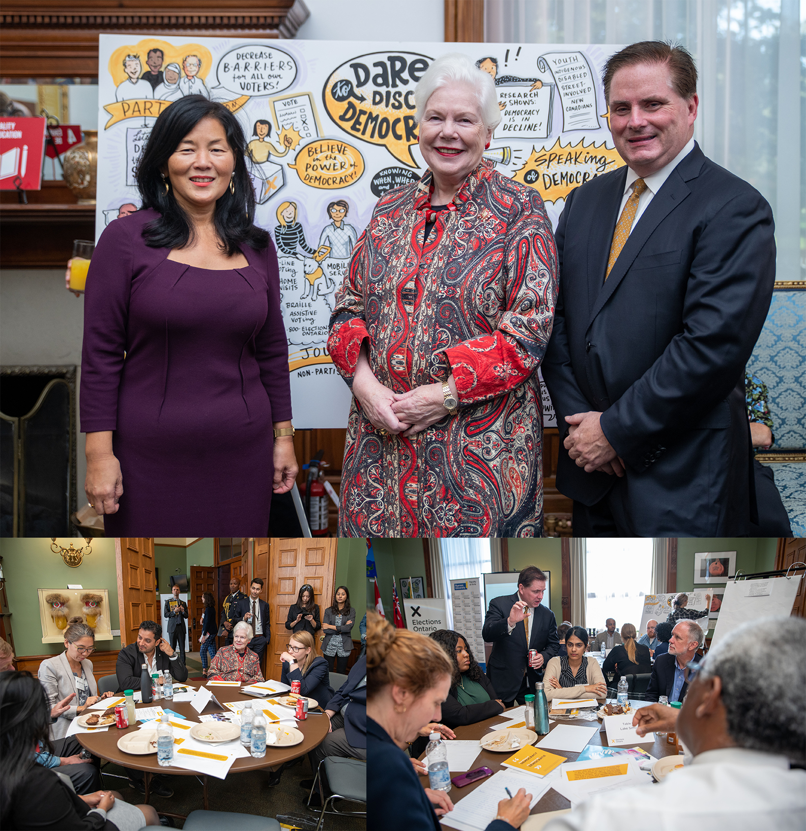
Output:
[[[464,52],[495,78],[502,120],[485,155],[540,191],[556,227],[571,189],[623,165],[601,82],[620,48],[101,35],[95,237],[139,207],[134,173],[159,113],[185,93],[221,101],[250,145],[256,224],[276,240],[296,222],[305,240],[297,234],[279,252],[295,425],[346,427],[350,393],[327,351],[330,312],[379,196],[425,172],[413,90],[431,61]],[[179,69],[178,86],[144,80],[151,50],[162,53],[161,71]],[[347,214],[336,229],[329,206],[338,200]]]

